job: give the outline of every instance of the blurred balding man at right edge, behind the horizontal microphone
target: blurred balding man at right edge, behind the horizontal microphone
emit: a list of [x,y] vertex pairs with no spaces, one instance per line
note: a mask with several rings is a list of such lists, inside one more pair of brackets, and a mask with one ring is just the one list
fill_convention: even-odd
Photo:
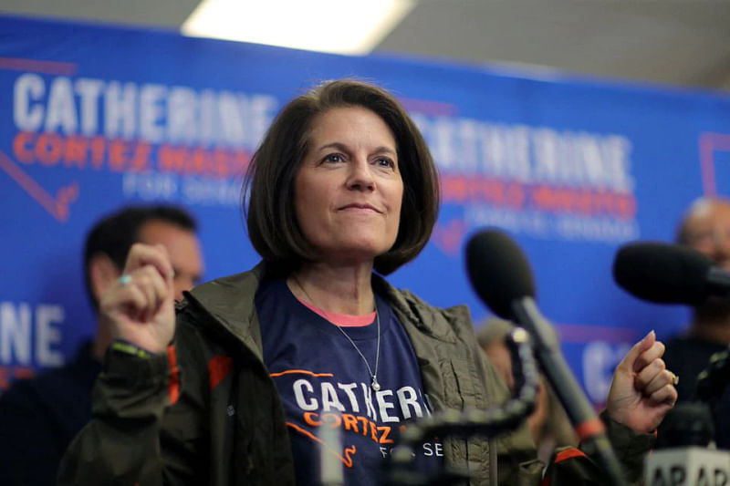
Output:
[[[730,199],[694,201],[679,223],[676,241],[703,253],[717,268],[730,272]],[[730,346],[730,299],[710,297],[694,307],[687,331],[668,340],[666,346],[664,362],[680,377],[679,400],[694,399],[697,375],[709,366],[714,353]],[[717,446],[730,449],[730,390],[723,392],[714,419]]]

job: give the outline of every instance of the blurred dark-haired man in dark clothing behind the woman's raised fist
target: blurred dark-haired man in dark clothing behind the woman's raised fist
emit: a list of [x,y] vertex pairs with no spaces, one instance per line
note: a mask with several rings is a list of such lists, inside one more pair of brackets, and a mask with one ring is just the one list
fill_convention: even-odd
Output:
[[56,484],[68,443],[91,419],[91,391],[111,342],[99,319],[100,296],[115,284],[133,243],[155,245],[174,269],[176,300],[203,274],[193,216],[168,205],[135,206],[107,215],[86,237],[84,278],[96,318],[95,334],[63,367],[18,380],[0,397],[0,484]]

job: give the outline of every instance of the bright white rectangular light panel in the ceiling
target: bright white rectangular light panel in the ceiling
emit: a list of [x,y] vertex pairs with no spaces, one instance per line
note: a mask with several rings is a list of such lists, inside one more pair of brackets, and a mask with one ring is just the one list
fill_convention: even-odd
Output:
[[203,0],[185,36],[339,54],[368,54],[415,0]]

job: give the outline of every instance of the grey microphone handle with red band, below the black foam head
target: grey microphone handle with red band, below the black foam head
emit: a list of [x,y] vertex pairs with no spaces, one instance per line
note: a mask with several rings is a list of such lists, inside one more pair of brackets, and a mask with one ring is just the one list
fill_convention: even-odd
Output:
[[607,474],[610,484],[623,486],[626,481],[621,474],[619,460],[606,437],[605,426],[570,371],[553,326],[540,314],[532,297],[514,300],[512,312],[516,323],[527,328],[532,336],[535,357],[568,412],[570,423],[584,443],[584,450],[594,456]]

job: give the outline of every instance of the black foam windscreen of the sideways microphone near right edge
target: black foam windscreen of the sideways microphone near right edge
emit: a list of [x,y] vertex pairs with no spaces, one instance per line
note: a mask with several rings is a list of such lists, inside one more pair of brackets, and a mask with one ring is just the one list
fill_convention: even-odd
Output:
[[712,261],[668,243],[629,243],[613,261],[613,278],[629,294],[659,304],[701,304]]

